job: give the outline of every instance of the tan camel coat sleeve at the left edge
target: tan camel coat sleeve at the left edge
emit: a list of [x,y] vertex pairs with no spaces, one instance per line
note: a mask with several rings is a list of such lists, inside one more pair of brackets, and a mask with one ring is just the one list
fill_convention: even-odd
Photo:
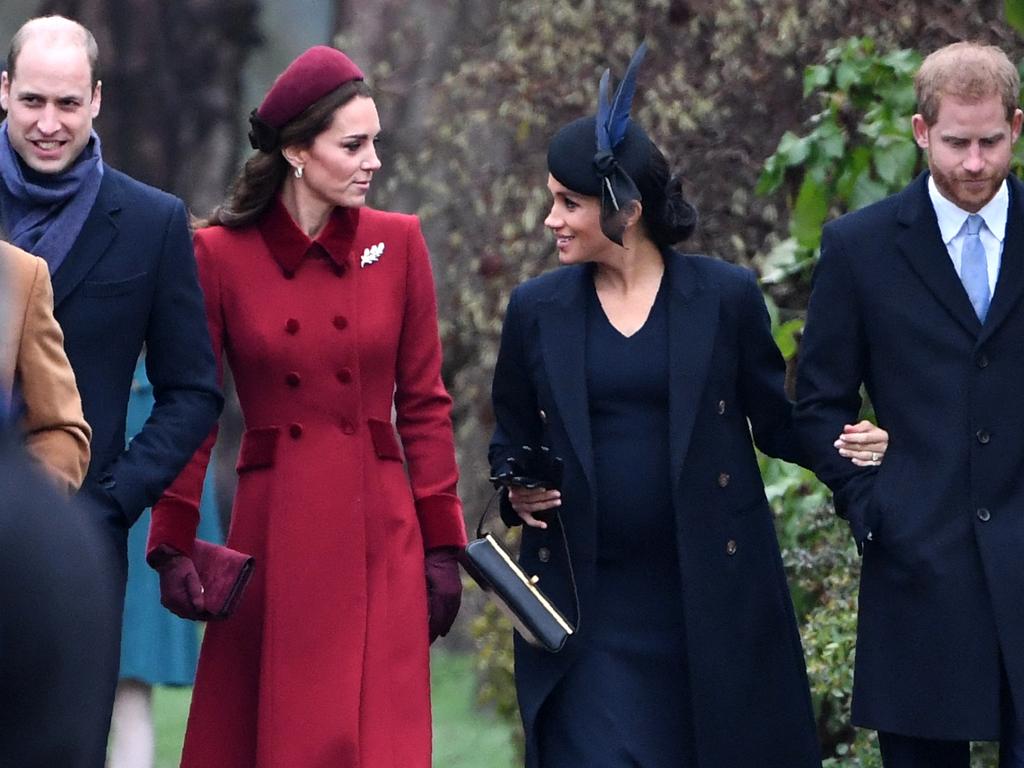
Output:
[[22,430],[30,455],[68,490],[75,492],[89,466],[92,431],[82,413],[75,373],[53,317],[53,289],[42,259],[34,270],[14,369],[25,404]]

